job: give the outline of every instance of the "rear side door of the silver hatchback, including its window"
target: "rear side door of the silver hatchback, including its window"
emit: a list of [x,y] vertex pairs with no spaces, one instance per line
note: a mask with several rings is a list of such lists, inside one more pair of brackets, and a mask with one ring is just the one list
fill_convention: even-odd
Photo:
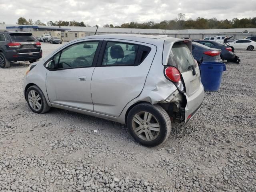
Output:
[[156,46],[128,40],[104,39],[92,75],[94,112],[120,116],[144,87]]

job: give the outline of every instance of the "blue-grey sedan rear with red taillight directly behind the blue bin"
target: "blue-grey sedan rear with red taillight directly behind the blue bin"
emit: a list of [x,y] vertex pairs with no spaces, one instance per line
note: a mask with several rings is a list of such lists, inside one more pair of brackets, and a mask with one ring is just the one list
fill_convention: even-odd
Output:
[[198,62],[198,65],[200,65],[203,61],[222,62],[220,53],[220,49],[210,48],[200,43],[192,42],[192,55]]

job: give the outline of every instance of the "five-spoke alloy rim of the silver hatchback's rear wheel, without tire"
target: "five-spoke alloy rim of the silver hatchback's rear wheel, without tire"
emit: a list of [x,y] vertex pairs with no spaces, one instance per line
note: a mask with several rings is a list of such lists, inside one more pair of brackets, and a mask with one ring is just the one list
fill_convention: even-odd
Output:
[[135,134],[142,140],[152,141],[160,132],[160,124],[155,116],[143,111],[138,112],[132,118],[132,128]]

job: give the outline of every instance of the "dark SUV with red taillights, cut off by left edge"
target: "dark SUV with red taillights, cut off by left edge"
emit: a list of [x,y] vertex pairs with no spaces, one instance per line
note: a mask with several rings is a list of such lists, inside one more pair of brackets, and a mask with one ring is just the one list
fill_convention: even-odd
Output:
[[29,61],[42,58],[41,44],[27,32],[0,32],[0,67],[8,68],[11,62]]

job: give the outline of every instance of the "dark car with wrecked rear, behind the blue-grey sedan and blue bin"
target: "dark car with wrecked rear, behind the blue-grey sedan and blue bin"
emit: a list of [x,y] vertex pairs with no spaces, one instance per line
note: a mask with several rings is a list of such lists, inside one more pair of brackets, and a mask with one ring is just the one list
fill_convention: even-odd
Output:
[[194,42],[200,43],[210,48],[221,49],[220,58],[222,60],[227,60],[230,62],[238,62],[238,63],[240,62],[240,59],[234,53],[234,49],[231,48],[230,46],[227,46],[226,44],[222,44],[220,42],[210,41],[210,40],[195,40]]

